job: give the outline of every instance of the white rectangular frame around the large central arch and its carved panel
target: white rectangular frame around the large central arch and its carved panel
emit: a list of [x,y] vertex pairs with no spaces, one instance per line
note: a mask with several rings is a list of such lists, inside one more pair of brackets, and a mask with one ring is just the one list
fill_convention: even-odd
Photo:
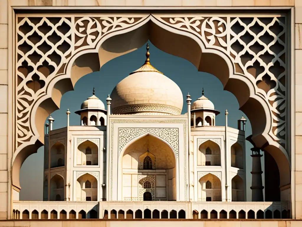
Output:
[[[112,115],[111,115],[112,116]],[[118,174],[119,160],[119,128],[177,128],[178,129],[178,158],[176,158],[176,200],[188,201],[188,129],[186,123],[186,115],[184,117],[156,117],[143,118],[138,116],[138,119],[133,117],[110,117],[110,148],[108,149],[107,165],[109,165],[109,173],[107,177],[107,201],[122,200],[122,195],[118,193],[122,190],[122,184],[119,179],[122,177]],[[143,123],[146,122],[146,123]],[[166,123],[165,123],[166,122]],[[183,136],[182,136],[183,135]],[[133,138],[134,139],[134,138]],[[112,146],[114,144],[114,146]],[[184,169],[185,171],[181,171]]]

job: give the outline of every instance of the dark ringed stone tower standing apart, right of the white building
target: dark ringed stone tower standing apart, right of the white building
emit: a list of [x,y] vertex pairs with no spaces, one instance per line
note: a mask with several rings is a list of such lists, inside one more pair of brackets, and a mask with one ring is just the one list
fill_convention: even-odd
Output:
[[262,169],[261,169],[261,157],[260,148],[253,147],[252,150],[252,201],[263,202],[263,189],[262,186]]

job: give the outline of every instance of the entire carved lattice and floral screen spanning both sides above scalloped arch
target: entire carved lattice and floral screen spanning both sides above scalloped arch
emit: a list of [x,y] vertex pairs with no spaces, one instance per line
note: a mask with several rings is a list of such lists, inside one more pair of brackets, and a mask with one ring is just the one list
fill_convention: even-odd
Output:
[[[191,17],[162,15],[91,15],[45,17],[17,15],[15,148],[33,136],[30,116],[38,100],[46,99],[47,87],[66,75],[74,56],[95,50],[103,40],[121,30],[135,29],[153,20],[175,31],[198,37],[206,49],[228,56],[236,74],[248,77],[271,110],[269,135],[282,146],[286,138],[286,42],[285,16]],[[252,69],[252,70],[251,70]]]

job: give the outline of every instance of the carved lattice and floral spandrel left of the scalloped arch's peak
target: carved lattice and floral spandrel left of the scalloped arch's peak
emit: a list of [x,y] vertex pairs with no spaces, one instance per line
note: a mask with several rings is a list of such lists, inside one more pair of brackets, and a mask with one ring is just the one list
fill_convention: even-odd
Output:
[[109,33],[131,27],[142,17],[18,17],[16,31],[16,143],[34,136],[31,111],[53,78],[66,74],[80,51],[94,49]]

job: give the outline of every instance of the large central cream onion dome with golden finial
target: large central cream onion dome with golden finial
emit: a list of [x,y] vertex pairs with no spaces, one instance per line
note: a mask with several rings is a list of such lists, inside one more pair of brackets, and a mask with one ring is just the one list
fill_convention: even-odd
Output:
[[150,64],[148,42],[146,50],[145,63],[112,90],[112,113],[180,115],[182,91],[174,81]]

